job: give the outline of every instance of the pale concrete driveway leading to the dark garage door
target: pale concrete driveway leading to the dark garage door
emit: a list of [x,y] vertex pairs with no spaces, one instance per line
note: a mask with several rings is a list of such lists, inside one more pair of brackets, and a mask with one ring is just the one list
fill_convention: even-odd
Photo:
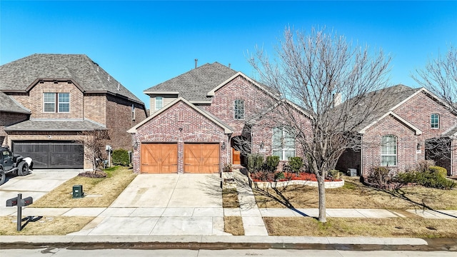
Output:
[[65,181],[77,176],[81,171],[39,169],[31,171],[26,176],[6,176],[6,182],[0,186],[0,216],[16,211],[16,207],[5,207],[7,199],[22,193],[23,198],[31,196],[36,201]]

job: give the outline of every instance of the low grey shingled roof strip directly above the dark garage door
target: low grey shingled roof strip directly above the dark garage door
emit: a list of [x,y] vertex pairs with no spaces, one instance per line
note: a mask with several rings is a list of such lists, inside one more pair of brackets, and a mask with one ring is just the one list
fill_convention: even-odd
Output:
[[30,119],[5,126],[5,131],[93,131],[106,127],[89,119]]

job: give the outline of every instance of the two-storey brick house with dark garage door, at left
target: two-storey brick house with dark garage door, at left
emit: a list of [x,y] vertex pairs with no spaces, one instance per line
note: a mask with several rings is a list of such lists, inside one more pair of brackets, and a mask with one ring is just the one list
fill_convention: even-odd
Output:
[[81,132],[107,129],[107,144],[131,149],[126,130],[146,109],[84,54],[33,54],[0,66],[0,116],[0,142],[36,168],[91,168]]

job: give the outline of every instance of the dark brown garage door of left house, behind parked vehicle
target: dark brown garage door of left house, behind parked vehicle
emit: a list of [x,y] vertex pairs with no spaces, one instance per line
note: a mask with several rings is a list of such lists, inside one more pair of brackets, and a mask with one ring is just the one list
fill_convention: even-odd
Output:
[[83,168],[84,146],[71,141],[15,141],[13,151],[31,157],[34,168]]

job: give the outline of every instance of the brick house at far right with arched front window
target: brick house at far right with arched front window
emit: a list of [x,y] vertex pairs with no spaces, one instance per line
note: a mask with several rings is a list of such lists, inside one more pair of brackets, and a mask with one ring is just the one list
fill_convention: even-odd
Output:
[[359,126],[361,151],[343,153],[336,168],[356,168],[358,175],[366,176],[375,166],[405,171],[433,159],[448,175],[456,174],[457,116],[427,89],[397,85],[382,91],[386,104]]

